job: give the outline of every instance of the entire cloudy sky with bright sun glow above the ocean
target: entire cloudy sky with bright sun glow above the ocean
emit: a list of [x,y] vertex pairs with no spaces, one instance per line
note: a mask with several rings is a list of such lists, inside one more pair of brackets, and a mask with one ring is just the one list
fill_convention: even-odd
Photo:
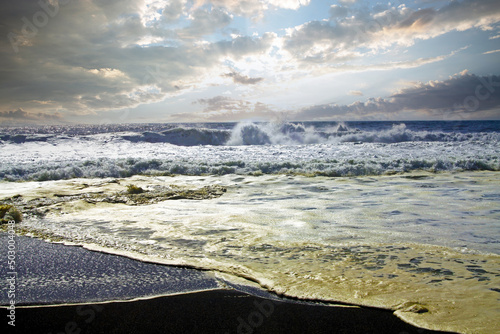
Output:
[[500,119],[498,0],[9,0],[0,124]]

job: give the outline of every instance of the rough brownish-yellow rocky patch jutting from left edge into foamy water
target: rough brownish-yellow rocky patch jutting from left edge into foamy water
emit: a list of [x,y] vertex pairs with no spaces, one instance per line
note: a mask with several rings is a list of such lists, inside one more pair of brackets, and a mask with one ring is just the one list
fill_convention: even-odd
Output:
[[32,189],[23,189],[25,187],[20,186],[19,193],[0,198],[2,208],[0,219],[6,222],[6,219],[11,218],[12,215],[18,217],[16,221],[21,221],[21,215],[44,217],[48,212],[57,212],[62,207],[71,206],[71,203],[148,205],[167,200],[207,200],[218,198],[226,192],[226,188],[220,185],[197,187],[196,185],[168,184],[164,181],[140,177],[50,181],[53,184],[47,189],[50,188],[51,191],[44,191],[43,182],[36,182]]

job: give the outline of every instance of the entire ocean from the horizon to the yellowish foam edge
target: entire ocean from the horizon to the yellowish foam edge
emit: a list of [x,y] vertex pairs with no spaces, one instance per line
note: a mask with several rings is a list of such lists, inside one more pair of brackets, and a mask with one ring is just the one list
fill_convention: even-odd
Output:
[[494,333],[499,144],[500,121],[4,127],[0,200],[23,234]]

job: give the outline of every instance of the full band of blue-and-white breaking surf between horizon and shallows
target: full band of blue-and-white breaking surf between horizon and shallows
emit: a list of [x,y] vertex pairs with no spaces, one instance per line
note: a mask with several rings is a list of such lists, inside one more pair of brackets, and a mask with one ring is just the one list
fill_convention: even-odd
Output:
[[499,122],[4,128],[0,178],[499,170]]

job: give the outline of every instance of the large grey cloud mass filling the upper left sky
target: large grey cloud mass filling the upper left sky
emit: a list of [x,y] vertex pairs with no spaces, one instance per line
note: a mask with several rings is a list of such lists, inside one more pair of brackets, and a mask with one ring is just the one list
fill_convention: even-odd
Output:
[[[227,68],[224,59],[265,52],[276,38],[268,33],[198,43],[201,35],[230,23],[232,14],[220,6],[190,9],[188,25],[172,30],[159,24],[161,14],[175,20],[186,2],[155,3],[154,10],[146,10],[144,1],[71,1],[54,17],[44,14],[49,22],[30,33],[24,30],[43,12],[38,3],[3,6],[0,34],[15,37],[0,40],[0,108],[82,115],[160,102],[202,87]],[[161,43],[144,47],[148,39]],[[260,81],[243,75],[233,80]]]

